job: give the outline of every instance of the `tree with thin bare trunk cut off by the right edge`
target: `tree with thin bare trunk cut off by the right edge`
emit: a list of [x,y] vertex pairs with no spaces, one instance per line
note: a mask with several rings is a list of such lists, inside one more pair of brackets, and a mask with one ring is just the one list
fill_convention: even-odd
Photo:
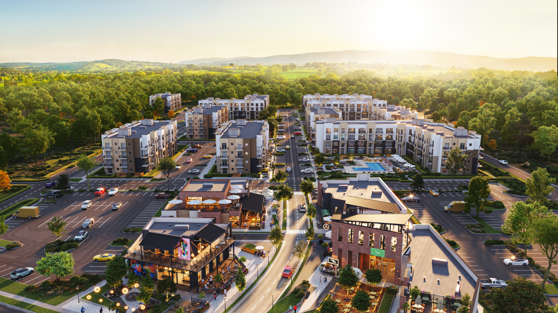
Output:
[[553,263],[556,264],[555,258],[558,256],[558,217],[551,214],[545,218],[537,219],[533,222],[531,229],[533,231],[533,243],[538,244],[542,255],[549,260],[545,279],[541,284],[542,288],[545,288],[550,268]]

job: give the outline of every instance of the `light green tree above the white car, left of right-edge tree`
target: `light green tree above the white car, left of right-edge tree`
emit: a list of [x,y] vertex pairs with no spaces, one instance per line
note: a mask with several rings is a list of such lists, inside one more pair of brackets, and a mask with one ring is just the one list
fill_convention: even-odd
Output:
[[532,241],[531,224],[540,219],[546,211],[546,207],[538,202],[515,202],[508,209],[508,215],[501,227],[502,232],[511,234],[510,239],[514,244],[524,244],[525,255],[527,255],[527,244]]

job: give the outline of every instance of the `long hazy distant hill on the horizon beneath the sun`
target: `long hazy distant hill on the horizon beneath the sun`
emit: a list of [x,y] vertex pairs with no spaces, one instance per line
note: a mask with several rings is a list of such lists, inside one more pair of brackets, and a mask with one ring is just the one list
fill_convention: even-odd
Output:
[[180,61],[180,64],[222,64],[233,62],[242,64],[288,64],[304,65],[306,62],[359,62],[359,63],[392,63],[420,64],[442,67],[463,67],[478,69],[485,67],[493,70],[510,71],[549,71],[558,70],[558,58],[555,57],[523,57],[498,58],[489,56],[460,55],[452,52],[424,50],[345,50],[328,52],[307,52],[296,55],[275,55],[267,57],[234,57],[234,58],[199,58]]

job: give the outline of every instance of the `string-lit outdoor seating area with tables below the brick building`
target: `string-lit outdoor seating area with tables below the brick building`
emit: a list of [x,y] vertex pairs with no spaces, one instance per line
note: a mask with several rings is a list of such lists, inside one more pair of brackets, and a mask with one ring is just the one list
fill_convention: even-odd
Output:
[[363,311],[362,313],[377,313],[386,291],[385,288],[373,286],[369,283],[357,282],[357,286],[349,288],[349,291],[347,292],[347,289],[341,288],[341,286],[336,283],[333,290],[331,290],[329,294],[331,295],[331,299],[337,302],[339,312],[360,313],[360,311],[354,309],[350,304],[358,290],[364,290],[370,297],[372,303],[369,310]]

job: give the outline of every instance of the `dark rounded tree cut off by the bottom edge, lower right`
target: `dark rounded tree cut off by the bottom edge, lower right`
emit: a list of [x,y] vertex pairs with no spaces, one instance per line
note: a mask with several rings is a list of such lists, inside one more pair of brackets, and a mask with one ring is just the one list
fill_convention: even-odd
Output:
[[493,302],[490,308],[493,313],[535,313],[547,309],[546,296],[542,294],[542,287],[538,283],[524,276],[506,282],[506,288],[493,288],[485,295],[485,299]]

